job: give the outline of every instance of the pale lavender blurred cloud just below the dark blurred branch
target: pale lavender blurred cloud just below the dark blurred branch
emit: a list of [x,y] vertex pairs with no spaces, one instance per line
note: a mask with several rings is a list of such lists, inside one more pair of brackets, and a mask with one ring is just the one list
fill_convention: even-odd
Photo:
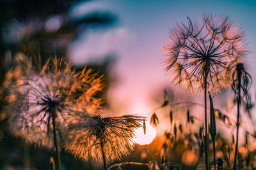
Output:
[[89,30],[85,38],[76,41],[69,50],[70,60],[81,64],[102,59],[108,53],[118,53],[135,41],[134,34],[125,27],[106,32]]

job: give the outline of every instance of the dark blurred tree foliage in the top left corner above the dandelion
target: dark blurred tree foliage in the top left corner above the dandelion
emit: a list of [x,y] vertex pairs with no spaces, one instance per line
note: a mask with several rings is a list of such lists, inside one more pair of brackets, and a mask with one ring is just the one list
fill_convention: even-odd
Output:
[[52,55],[65,56],[67,48],[82,31],[115,24],[116,17],[108,11],[92,11],[79,17],[72,9],[86,1],[0,1],[0,83],[12,66],[12,56],[22,52],[41,55],[42,62]]

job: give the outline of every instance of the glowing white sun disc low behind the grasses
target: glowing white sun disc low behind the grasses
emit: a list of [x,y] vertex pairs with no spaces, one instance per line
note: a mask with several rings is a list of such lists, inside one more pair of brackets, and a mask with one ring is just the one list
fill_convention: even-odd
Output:
[[140,145],[147,145],[152,143],[156,136],[156,129],[154,129],[148,122],[146,122],[146,134],[144,134],[143,127],[136,129],[134,143]]

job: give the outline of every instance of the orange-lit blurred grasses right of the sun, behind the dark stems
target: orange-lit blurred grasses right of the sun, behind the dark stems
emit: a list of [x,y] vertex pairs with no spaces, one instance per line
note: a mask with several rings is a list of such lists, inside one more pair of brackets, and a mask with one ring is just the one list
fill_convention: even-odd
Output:
[[[169,96],[173,96],[172,90],[170,90],[169,93],[171,93]],[[166,96],[166,94],[167,92],[164,90],[164,96]],[[156,139],[147,146],[136,146],[138,147],[138,150],[140,150],[141,157],[138,151],[135,151],[129,156],[129,159],[124,159],[123,162],[125,160],[134,160],[134,162],[145,163],[156,161],[159,168],[161,165],[164,166],[162,169],[168,169],[167,166],[170,165],[180,165],[182,166],[182,169],[198,169],[199,167],[204,167],[204,126],[202,125],[202,122],[198,121],[199,118],[191,111],[191,106],[200,106],[200,104],[195,104],[193,102],[175,103],[175,97],[172,99],[163,97],[162,101],[158,102],[159,106],[152,112],[151,121],[152,123],[154,122],[153,120],[160,122],[161,118],[166,119],[165,116],[170,116],[169,130],[166,129],[166,132],[159,134]],[[180,106],[180,104],[183,105]],[[168,109],[166,110],[166,107],[170,108],[171,111],[168,111]],[[246,113],[246,103],[244,103],[243,107],[244,113]],[[221,124],[227,129],[236,128],[236,120],[233,120],[229,114],[223,113],[218,108],[214,109],[213,107],[210,107],[209,110],[210,109],[212,116],[211,119],[214,119],[213,117],[215,117],[216,124]],[[183,117],[181,121],[177,119],[181,117]],[[166,121],[162,121],[160,124],[166,124]],[[212,124],[214,124],[214,122],[212,122]],[[211,128],[209,129],[209,134],[212,133],[215,136],[216,167],[217,169],[221,169],[222,167],[224,167],[224,169],[230,169],[234,164],[235,138],[234,135],[232,135],[232,138],[229,138],[228,140],[223,138],[221,131],[218,131],[218,133],[216,132],[216,124],[211,125],[211,127],[214,127],[212,132],[210,131]],[[237,169],[256,169],[256,135],[255,132],[252,132],[252,129],[246,129],[243,125],[242,127],[245,135],[240,138],[244,138],[245,143],[239,146],[238,149],[239,163],[237,165]],[[213,166],[214,163],[212,154],[214,152],[214,148],[212,146],[212,142],[212,139],[210,139],[208,143],[211,166]],[[141,147],[145,147],[146,149],[141,150]],[[142,156],[143,152],[146,152],[144,154],[146,156]],[[136,159],[134,157],[136,157]],[[164,163],[161,164],[163,160]],[[129,166],[122,166],[122,169],[129,169],[128,167]],[[147,167],[147,164],[144,164],[144,167]]]

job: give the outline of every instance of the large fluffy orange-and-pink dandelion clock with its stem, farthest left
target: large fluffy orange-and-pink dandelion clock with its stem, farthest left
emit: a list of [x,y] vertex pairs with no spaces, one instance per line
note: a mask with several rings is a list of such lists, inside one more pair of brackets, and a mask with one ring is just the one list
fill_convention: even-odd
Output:
[[[31,59],[23,55],[17,55],[16,62],[17,66],[9,73],[12,81],[8,109],[12,113],[13,131],[39,146],[54,146],[60,170],[60,129],[74,110],[78,110],[75,99],[85,93],[81,93],[85,73],[76,73],[70,63],[57,57],[49,59],[42,67],[33,66]],[[99,86],[99,83],[92,86]]]

